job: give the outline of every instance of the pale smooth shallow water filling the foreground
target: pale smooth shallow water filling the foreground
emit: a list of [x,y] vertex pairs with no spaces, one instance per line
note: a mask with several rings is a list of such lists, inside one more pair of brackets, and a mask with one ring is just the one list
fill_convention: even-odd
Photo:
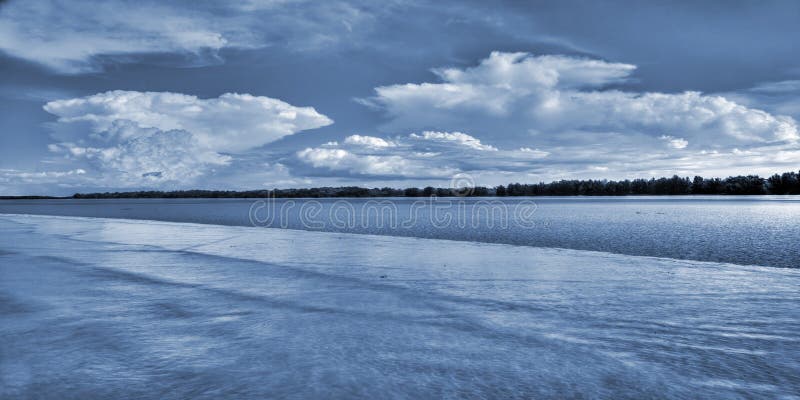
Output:
[[3,398],[797,398],[800,270],[0,215]]

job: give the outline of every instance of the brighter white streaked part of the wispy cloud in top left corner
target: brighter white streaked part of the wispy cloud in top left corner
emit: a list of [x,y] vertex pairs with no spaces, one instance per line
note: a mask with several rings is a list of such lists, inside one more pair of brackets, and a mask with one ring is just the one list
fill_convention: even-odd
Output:
[[0,49],[64,73],[98,69],[99,55],[198,53],[243,46],[207,16],[157,3],[11,1],[0,9]]

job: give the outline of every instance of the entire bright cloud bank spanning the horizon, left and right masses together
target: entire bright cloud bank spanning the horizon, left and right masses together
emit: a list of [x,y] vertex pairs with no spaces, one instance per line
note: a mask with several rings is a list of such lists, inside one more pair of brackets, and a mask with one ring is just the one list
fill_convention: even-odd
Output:
[[[9,170],[0,183],[58,176],[61,184],[119,188],[446,185],[468,173],[497,185],[797,168],[797,122],[776,111],[791,108],[796,82],[740,97],[623,90],[635,70],[493,52],[472,67],[434,70],[439,82],[375,88],[360,101],[387,116],[383,132],[340,132],[327,143],[305,136],[275,151],[270,143],[333,121],[311,107],[236,93],[110,91],[51,101],[51,161],[61,172]],[[775,98],[775,108],[755,107],[758,96]]]

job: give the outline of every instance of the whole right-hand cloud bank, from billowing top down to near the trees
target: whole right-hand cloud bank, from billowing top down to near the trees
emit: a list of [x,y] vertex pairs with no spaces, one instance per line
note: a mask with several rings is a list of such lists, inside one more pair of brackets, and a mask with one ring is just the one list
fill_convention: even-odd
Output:
[[[434,69],[438,82],[380,86],[359,102],[384,113],[386,132],[429,131],[401,143],[460,144],[461,150],[439,149],[449,156],[436,163],[485,176],[487,184],[796,168],[800,130],[792,116],[728,95],[626,91],[635,70],[581,57],[492,52],[471,67]],[[797,87],[781,82],[751,92],[786,98]],[[489,151],[467,153],[464,146]],[[414,158],[419,150],[407,151],[413,147],[392,152]],[[522,158],[526,153],[538,157]]]

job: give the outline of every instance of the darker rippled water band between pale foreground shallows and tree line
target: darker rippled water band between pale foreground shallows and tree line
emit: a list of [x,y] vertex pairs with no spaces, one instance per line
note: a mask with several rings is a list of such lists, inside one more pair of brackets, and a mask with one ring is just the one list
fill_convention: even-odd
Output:
[[[273,201],[255,209],[255,200],[241,199],[0,201],[0,213],[221,225],[252,225],[255,216],[258,225],[272,227],[800,267],[800,196]],[[515,215],[521,203],[535,204],[525,221],[530,223],[519,223]],[[316,217],[307,215],[315,210]],[[444,216],[450,214],[451,223],[437,224],[432,218],[442,210]],[[406,221],[411,223],[403,226]]]

